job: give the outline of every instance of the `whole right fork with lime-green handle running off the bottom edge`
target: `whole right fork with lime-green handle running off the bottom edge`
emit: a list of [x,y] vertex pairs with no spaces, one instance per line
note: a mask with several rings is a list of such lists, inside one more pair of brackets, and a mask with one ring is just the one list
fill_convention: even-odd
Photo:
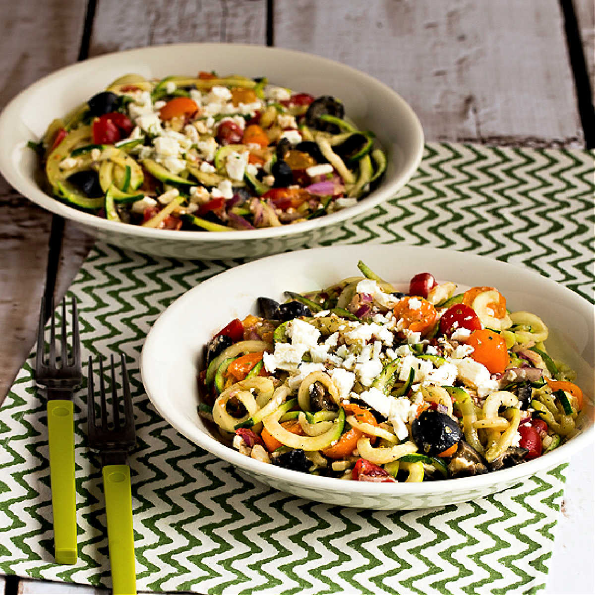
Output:
[[112,590],[114,595],[136,594],[136,569],[134,536],[132,530],[132,497],[128,453],[136,443],[132,398],[126,370],[126,358],[121,354],[122,392],[124,417],[120,417],[118,391],[115,381],[114,356],[111,362],[112,423],[108,424],[108,406],[105,396],[104,366],[99,359],[99,418],[95,413],[93,386],[93,361],[89,357],[87,381],[87,425],[89,446],[101,453],[104,479],[105,512],[108,524],[109,560],[111,563]]

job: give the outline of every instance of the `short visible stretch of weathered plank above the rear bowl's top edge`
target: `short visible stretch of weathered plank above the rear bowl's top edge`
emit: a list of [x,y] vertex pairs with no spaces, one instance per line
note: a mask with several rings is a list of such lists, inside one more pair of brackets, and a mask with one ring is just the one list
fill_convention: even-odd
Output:
[[164,43],[265,40],[265,0],[99,0],[90,55]]

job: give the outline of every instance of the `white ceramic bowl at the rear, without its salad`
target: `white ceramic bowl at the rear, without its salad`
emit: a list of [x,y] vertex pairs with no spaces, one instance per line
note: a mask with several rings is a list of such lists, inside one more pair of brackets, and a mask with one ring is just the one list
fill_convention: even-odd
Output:
[[[156,230],[107,221],[58,202],[40,188],[36,155],[27,149],[48,124],[126,73],[146,77],[193,74],[199,70],[267,76],[271,83],[312,95],[334,95],[363,129],[377,134],[388,167],[378,189],[357,205],[290,226],[253,231]],[[326,58],[286,49],[225,43],[188,43],[108,54],[46,76],[15,97],[0,116],[0,171],[24,196],[99,239],[137,250],[179,258],[253,258],[311,245],[325,227],[337,226],[386,201],[418,167],[424,145],[419,120],[402,98],[367,74]]]

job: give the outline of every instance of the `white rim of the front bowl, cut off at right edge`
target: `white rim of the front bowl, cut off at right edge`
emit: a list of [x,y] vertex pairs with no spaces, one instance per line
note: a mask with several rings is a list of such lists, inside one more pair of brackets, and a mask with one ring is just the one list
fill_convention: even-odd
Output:
[[[368,243],[366,245],[378,246],[379,244]],[[390,248],[391,246],[396,245],[386,245],[387,248]],[[418,253],[424,252],[426,255],[431,255],[431,253],[447,252],[447,250],[444,249],[427,248],[425,246],[409,246],[399,244],[398,247],[400,250],[414,250]],[[314,255],[322,252],[330,252],[333,250],[336,251],[337,249],[341,248],[362,248],[362,245],[328,246],[325,248],[295,250],[289,254],[277,254],[273,256],[267,256],[265,258],[248,262],[246,264],[240,265],[239,267],[233,267],[227,271],[223,271],[223,273],[214,275],[208,280],[202,281],[202,283],[200,283],[198,286],[188,290],[186,293],[178,297],[173,303],[171,303],[170,306],[168,306],[168,308],[165,309],[165,311],[162,312],[161,315],[159,315],[158,319],[152,325],[151,330],[149,330],[149,333],[145,339],[145,343],[143,344],[143,348],[140,354],[141,380],[143,386],[145,387],[149,400],[151,400],[152,405],[155,407],[158,413],[177,431],[179,431],[179,433],[183,434],[183,436],[185,436],[187,439],[198,444],[203,449],[214,454],[215,456],[218,456],[219,458],[224,459],[227,462],[230,462],[240,470],[245,468],[249,472],[253,472],[258,475],[265,475],[272,478],[273,480],[298,485],[302,488],[316,487],[320,488],[321,490],[339,490],[343,494],[362,497],[374,496],[375,494],[377,494],[378,496],[402,497],[437,495],[440,493],[447,492],[461,493],[469,490],[481,490],[481,488],[486,488],[493,485],[494,481],[499,481],[506,486],[510,483],[513,483],[515,480],[518,480],[520,482],[523,478],[530,477],[531,475],[543,471],[544,469],[552,469],[560,464],[568,463],[568,459],[572,456],[573,453],[575,453],[577,450],[583,449],[584,447],[588,446],[588,444],[593,442],[593,440],[595,439],[595,425],[591,421],[590,426],[581,431],[581,433],[578,436],[575,436],[567,443],[562,444],[562,446],[552,450],[552,452],[547,453],[547,455],[540,456],[536,459],[533,459],[532,461],[527,461],[520,465],[512,466],[507,469],[501,469],[500,471],[490,471],[483,475],[474,475],[472,477],[461,477],[449,480],[430,481],[422,483],[399,482],[383,484],[369,483],[365,481],[345,481],[332,477],[309,475],[301,473],[299,471],[284,469],[277,465],[271,465],[261,461],[256,461],[255,459],[252,459],[246,455],[242,455],[233,448],[226,446],[226,444],[221,443],[220,441],[212,437],[210,434],[205,433],[202,430],[192,431],[193,428],[196,428],[196,425],[191,424],[190,422],[180,424],[179,419],[176,419],[176,422],[173,422],[171,419],[171,415],[168,414],[168,411],[159,405],[159,399],[155,399],[155,397],[151,394],[151,375],[154,373],[154,371],[148,365],[145,365],[146,351],[150,349],[152,347],[152,343],[155,340],[157,340],[156,337],[158,337],[159,327],[161,325],[167,324],[171,312],[175,312],[177,309],[183,308],[184,302],[186,302],[187,300],[192,300],[193,293],[202,291],[205,288],[208,289],[209,283],[213,279],[223,277],[224,275],[233,275],[234,271],[236,271],[239,268],[259,267],[262,266],[265,262],[270,262],[273,259],[283,259],[284,257],[289,255],[300,255],[305,253],[311,253]],[[469,259],[475,262],[481,262],[486,266],[500,268],[502,270],[506,269],[508,271],[516,270],[522,272],[522,274],[525,275],[525,277],[527,277],[529,280],[533,278],[534,280],[540,280],[541,282],[545,281],[549,284],[551,283],[552,286],[558,287],[559,290],[565,293],[569,300],[574,301],[577,305],[582,305],[583,308],[585,307],[585,305],[591,307],[590,303],[588,303],[587,300],[579,296],[577,293],[572,292],[566,287],[563,287],[555,281],[549,280],[538,273],[534,273],[534,271],[527,270],[527,268],[515,264],[497,261],[495,259],[489,258],[488,256],[470,255],[458,252],[452,253],[453,255],[456,255],[458,257]],[[168,311],[170,312],[169,315],[167,314]]]

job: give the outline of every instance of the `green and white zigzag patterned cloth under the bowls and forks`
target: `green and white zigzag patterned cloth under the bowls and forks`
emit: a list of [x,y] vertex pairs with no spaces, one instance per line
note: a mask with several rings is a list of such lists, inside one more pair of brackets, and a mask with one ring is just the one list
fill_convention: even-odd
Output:
[[[593,300],[593,152],[431,143],[398,198],[324,244],[405,242],[523,264]],[[240,261],[177,261],[96,246],[71,287],[83,361],[121,350],[137,415],[131,457],[139,590],[209,594],[534,593],[544,587],[563,466],[440,509],[343,509],[254,484],[154,411],[143,339],[187,289]],[[45,403],[25,362],[0,411],[0,569],[110,586],[98,458],[75,400],[79,562],[53,562]]]

